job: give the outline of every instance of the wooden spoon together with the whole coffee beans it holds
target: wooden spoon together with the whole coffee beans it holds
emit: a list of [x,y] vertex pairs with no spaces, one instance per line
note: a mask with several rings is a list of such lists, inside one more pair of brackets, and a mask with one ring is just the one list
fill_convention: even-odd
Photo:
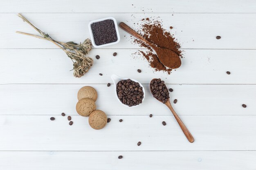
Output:
[[180,128],[182,129],[184,135],[189,140],[189,142],[193,143],[194,138],[189,132],[189,130],[186,128],[186,126],[183,124],[180,117],[177,115],[177,113],[174,111],[173,107],[171,106],[170,97],[168,88],[164,84],[164,81],[161,79],[152,79],[150,82],[150,92],[152,93],[153,97],[155,97],[159,102],[164,103],[173,113],[173,116],[177,120],[178,124],[180,125]]

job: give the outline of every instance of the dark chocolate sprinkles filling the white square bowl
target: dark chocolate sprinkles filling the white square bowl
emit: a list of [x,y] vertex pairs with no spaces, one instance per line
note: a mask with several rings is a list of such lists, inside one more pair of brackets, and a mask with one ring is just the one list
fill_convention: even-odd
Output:
[[91,24],[92,34],[96,45],[117,41],[117,31],[113,20],[103,20]]

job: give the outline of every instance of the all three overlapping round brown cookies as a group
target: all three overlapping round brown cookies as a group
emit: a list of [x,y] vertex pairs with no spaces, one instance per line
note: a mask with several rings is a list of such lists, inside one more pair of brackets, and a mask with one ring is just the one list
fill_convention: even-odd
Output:
[[97,91],[91,86],[84,86],[80,88],[77,94],[79,100],[76,104],[76,111],[81,116],[89,116],[89,124],[92,128],[99,130],[106,126],[107,115],[101,111],[96,110]]

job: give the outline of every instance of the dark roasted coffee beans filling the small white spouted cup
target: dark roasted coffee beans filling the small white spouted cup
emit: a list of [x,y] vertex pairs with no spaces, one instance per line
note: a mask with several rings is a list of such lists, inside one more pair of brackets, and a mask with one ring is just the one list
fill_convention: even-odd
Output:
[[138,82],[126,79],[117,83],[117,96],[123,104],[131,107],[142,103],[144,93]]

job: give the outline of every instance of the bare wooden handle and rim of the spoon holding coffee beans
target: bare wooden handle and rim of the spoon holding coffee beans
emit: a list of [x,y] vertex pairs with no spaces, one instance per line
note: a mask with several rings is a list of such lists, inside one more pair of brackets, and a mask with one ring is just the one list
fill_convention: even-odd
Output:
[[[155,80],[152,79],[151,82]],[[149,84],[150,86],[150,84]],[[151,87],[150,88],[150,92],[151,91]],[[153,93],[152,93],[153,94]],[[156,98],[157,99],[157,98]],[[157,99],[158,100],[158,99]],[[159,102],[162,103],[162,101],[158,100]],[[173,113],[173,116],[175,117],[175,119],[177,120],[178,124],[180,125],[181,130],[183,131],[184,135],[186,136],[186,138],[189,140],[189,142],[193,143],[194,142],[194,138],[191,135],[191,133],[189,132],[189,130],[186,128],[186,126],[183,124],[182,120],[180,119],[180,117],[177,115],[177,113],[174,111],[173,107],[171,106],[171,102],[170,99],[168,99],[168,101],[165,103],[165,105],[171,110],[171,112]]]

